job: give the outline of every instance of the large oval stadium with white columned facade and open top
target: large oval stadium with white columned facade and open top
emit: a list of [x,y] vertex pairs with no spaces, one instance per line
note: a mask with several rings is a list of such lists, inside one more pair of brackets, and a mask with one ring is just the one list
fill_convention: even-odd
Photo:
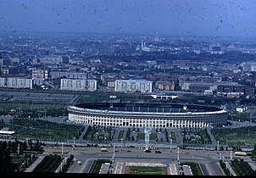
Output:
[[141,128],[215,128],[226,125],[228,116],[217,107],[172,103],[81,103],[68,112],[76,124]]

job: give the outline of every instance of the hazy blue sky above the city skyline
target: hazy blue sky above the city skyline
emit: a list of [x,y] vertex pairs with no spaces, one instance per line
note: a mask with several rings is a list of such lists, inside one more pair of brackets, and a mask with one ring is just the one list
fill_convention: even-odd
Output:
[[0,31],[256,36],[255,0],[0,0]]

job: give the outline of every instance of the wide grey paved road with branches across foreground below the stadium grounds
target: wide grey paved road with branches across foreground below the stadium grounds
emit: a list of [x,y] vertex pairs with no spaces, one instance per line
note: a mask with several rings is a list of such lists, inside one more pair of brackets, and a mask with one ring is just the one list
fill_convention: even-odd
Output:
[[[43,157],[49,153],[59,153],[61,154],[61,147],[44,147],[46,150],[44,154],[40,155],[39,159],[36,160],[34,164],[31,165],[26,172],[32,171],[36,164],[39,164]],[[154,164],[166,164],[170,167],[171,164],[177,164],[177,149],[173,148],[170,153],[170,149],[167,147],[158,148],[162,153],[144,153],[142,149],[138,147],[110,147],[109,152],[102,153],[100,147],[75,147],[75,150],[72,151],[71,146],[64,146],[63,153],[64,157],[69,157],[70,153],[74,153],[75,162],[70,166],[68,173],[88,173],[91,169],[92,163],[96,159],[110,159],[114,160],[116,163],[154,163]],[[221,153],[221,154],[220,154]],[[228,159],[230,156],[230,151],[200,151],[200,150],[190,150],[190,149],[180,149],[179,158],[181,162],[196,162],[200,165],[203,175],[224,175],[223,171],[220,169],[220,156],[224,159],[225,162],[230,162]],[[227,158],[227,159],[225,159]],[[236,156],[233,156],[236,158]],[[249,157],[243,157],[245,161],[248,161],[249,164],[254,164],[253,170],[255,170],[255,162],[251,161]],[[81,165],[77,164],[77,160],[81,160]],[[121,166],[122,165],[122,166]],[[116,165],[118,166],[118,165]],[[120,164],[120,172],[124,171],[124,164]],[[171,172],[169,170],[169,172]]]

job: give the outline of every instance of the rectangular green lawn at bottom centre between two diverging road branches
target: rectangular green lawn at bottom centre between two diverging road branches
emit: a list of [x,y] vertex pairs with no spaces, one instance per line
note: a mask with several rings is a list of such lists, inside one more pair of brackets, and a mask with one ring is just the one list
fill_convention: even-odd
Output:
[[126,166],[125,174],[130,175],[167,175],[166,167]]

